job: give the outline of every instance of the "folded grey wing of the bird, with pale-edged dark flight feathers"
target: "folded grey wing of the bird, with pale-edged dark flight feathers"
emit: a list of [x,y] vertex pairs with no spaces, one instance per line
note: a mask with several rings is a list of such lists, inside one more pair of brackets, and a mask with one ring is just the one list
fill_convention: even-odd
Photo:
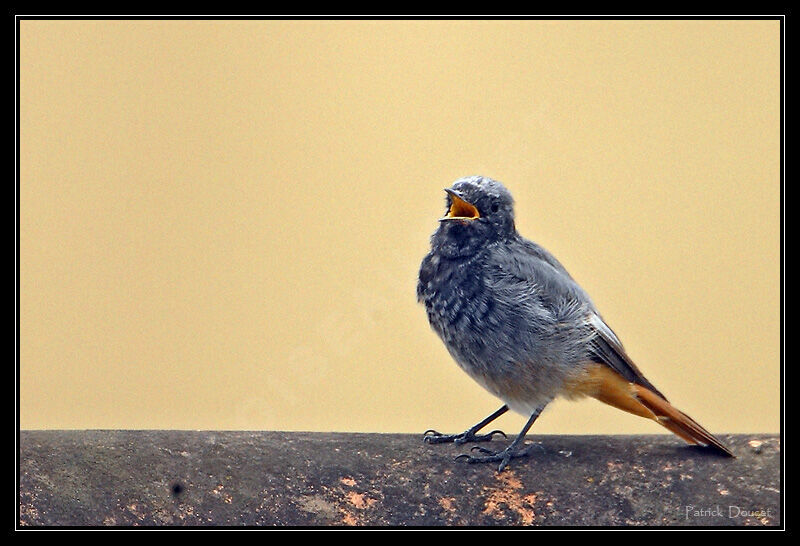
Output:
[[547,250],[532,241],[520,239],[507,251],[493,253],[493,269],[517,282],[529,285],[540,304],[549,309],[579,310],[580,324],[586,329],[591,360],[604,364],[628,381],[650,389],[664,398],[630,359],[613,330],[597,312],[589,295],[575,282],[563,265]]

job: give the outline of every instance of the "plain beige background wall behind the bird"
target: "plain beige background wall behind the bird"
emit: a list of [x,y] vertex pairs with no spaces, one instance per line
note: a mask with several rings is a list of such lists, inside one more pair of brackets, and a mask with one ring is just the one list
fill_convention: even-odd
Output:
[[[20,34],[23,428],[463,430],[500,404],[415,282],[484,174],[676,405],[778,430],[777,21]],[[536,429],[662,432],[594,401]]]

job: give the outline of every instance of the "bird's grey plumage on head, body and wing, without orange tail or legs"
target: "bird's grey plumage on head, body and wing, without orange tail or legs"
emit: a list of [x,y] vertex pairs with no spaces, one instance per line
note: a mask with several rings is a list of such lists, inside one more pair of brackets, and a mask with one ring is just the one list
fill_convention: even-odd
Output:
[[464,371],[525,415],[562,394],[590,362],[660,395],[564,266],[517,233],[514,201],[501,183],[473,176],[449,191],[480,218],[440,222],[417,298]]

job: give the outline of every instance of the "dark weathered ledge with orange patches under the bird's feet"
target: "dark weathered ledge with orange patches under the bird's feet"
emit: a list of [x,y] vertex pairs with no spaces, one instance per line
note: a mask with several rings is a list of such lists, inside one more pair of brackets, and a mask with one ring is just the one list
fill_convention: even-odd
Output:
[[[780,526],[780,440],[536,436],[502,473],[421,435],[23,431],[24,526]],[[495,439],[484,446],[503,447]]]

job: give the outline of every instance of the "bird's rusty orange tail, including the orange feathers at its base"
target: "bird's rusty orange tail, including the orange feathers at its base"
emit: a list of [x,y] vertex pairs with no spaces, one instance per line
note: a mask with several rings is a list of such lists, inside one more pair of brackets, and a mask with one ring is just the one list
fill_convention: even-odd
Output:
[[611,368],[592,365],[579,380],[567,386],[568,395],[585,395],[621,410],[653,419],[689,444],[708,446],[720,453],[734,454],[697,421],[675,408],[650,389],[631,383]]

